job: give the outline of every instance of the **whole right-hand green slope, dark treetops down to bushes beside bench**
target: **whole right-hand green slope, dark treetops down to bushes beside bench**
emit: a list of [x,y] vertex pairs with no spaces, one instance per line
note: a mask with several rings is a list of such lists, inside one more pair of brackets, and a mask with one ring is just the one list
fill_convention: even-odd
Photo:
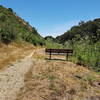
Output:
[[72,61],[100,71],[100,18],[81,21],[78,26],[56,37],[55,41],[74,50]]

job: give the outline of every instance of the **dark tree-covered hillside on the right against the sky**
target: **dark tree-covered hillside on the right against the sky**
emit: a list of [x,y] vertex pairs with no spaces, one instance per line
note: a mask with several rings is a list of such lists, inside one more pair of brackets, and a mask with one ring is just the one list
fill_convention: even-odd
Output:
[[66,41],[89,40],[91,43],[100,41],[100,18],[93,21],[81,21],[78,26],[73,26],[69,31],[57,36],[56,40],[60,43]]

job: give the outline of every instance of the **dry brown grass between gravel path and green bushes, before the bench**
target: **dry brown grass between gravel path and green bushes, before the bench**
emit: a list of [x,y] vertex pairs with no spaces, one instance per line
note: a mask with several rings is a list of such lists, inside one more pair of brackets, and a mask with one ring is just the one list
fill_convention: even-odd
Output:
[[37,50],[33,58],[17,100],[100,99],[100,75],[71,62],[44,60],[43,50]]

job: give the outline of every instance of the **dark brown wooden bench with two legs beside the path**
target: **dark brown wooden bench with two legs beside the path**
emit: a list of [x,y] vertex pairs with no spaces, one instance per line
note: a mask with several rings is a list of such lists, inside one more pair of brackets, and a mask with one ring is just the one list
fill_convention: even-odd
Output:
[[66,60],[68,60],[69,55],[71,56],[73,54],[72,49],[45,49],[46,53],[50,54],[50,59],[52,54],[57,54],[57,55],[66,55]]

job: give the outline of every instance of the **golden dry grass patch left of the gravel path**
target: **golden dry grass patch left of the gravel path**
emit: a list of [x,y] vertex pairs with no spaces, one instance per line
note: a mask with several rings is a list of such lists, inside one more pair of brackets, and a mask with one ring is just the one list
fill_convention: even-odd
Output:
[[35,47],[27,43],[0,44],[0,69],[5,68],[5,66],[8,66],[16,60],[24,58],[34,50],[34,48]]

